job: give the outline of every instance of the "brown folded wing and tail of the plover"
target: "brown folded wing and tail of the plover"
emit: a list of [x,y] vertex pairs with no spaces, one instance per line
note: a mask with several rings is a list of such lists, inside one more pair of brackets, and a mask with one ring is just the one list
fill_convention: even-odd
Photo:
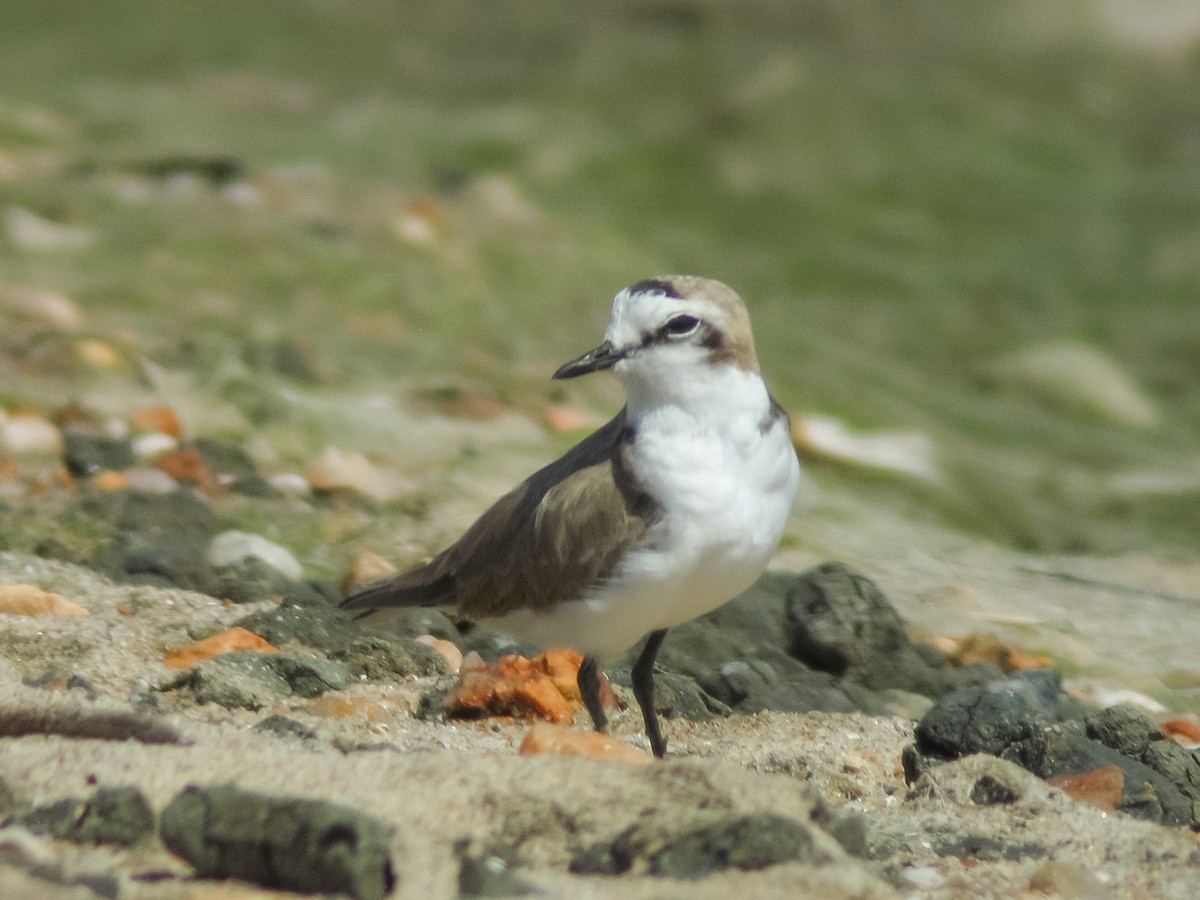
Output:
[[[457,604],[467,618],[577,600],[644,534],[619,462],[625,412],[497,500],[430,563],[346,600],[349,610]],[[636,511],[634,511],[636,509]]]

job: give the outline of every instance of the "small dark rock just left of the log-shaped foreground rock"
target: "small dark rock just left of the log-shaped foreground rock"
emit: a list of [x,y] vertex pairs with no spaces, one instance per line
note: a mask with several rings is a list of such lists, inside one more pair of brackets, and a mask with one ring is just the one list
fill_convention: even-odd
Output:
[[37,806],[18,821],[31,832],[74,844],[128,847],[154,833],[154,810],[136,787],[101,787],[90,799]]

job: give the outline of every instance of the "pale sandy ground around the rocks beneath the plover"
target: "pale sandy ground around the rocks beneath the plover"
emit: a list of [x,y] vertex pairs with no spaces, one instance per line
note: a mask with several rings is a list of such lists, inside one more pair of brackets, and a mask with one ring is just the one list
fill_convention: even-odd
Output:
[[[1189,620],[1187,598],[1200,595],[1194,562],[1030,559],[912,526],[902,533],[901,548],[900,533],[888,523],[871,532],[836,521],[809,518],[804,545],[785,551],[779,563],[799,568],[828,558],[823,546],[836,541],[840,558],[878,578],[918,629],[998,631],[1034,649],[1045,642],[1056,659],[1110,690],[1162,688],[1171,672],[1186,668],[1187,650],[1195,644],[1193,630],[1181,626]],[[257,713],[168,701],[155,715],[178,728],[180,744],[18,736],[13,730],[24,726],[13,722],[28,720],[30,710],[44,722],[128,709],[131,695],[174,677],[162,662],[167,649],[256,608],[181,590],[118,586],[67,564],[0,554],[0,583],[19,582],[60,593],[90,611],[5,620],[0,716],[10,737],[0,738],[0,773],[28,803],[85,797],[95,785],[132,784],[161,811],[187,785],[233,782],[272,796],[346,804],[395,828],[396,895],[402,898],[457,895],[463,856],[497,846],[516,848],[521,880],[546,896],[1195,895],[1200,853],[1190,832],[1074,803],[1015,767],[973,757],[935,770],[910,790],[900,752],[912,727],[899,719],[764,713],[706,724],[670,721],[671,757],[649,766],[522,757],[517,748],[526,724],[415,719],[430,685],[410,679],[337,692],[371,710],[348,718],[332,718],[300,698]],[[22,683],[49,670],[85,676],[96,698]],[[269,713],[302,722],[317,738],[252,731]],[[576,727],[582,728],[580,719]],[[635,710],[617,714],[613,732],[632,744],[643,742]],[[971,800],[972,785],[989,773],[1013,788],[1014,802]],[[858,856],[822,836],[829,859],[822,865],[787,863],[697,881],[584,877],[568,870],[582,847],[634,822],[661,822],[670,830],[714,811],[772,811],[805,822],[816,816]],[[131,878],[187,872],[157,841],[124,851],[76,847],[23,832],[18,840],[17,833],[0,832],[0,858],[12,863],[0,866],[5,896],[91,895],[38,880],[30,859],[53,863],[60,874],[115,872],[120,896],[268,895],[250,886]],[[965,838],[991,850],[955,850],[954,841]]]

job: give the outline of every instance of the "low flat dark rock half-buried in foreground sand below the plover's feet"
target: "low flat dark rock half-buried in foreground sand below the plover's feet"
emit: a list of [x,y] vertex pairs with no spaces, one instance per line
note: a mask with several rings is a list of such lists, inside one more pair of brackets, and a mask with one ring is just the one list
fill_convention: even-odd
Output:
[[582,851],[571,860],[571,871],[700,878],[725,869],[756,870],[787,862],[820,864],[826,859],[811,826],[763,812],[683,830],[641,822],[611,842]]

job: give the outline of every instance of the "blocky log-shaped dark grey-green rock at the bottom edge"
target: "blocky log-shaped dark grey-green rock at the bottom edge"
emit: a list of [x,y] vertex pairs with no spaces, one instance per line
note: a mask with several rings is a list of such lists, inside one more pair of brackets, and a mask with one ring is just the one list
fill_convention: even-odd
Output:
[[204,878],[382,900],[396,883],[390,829],[344,806],[188,787],[163,810],[160,835]]

